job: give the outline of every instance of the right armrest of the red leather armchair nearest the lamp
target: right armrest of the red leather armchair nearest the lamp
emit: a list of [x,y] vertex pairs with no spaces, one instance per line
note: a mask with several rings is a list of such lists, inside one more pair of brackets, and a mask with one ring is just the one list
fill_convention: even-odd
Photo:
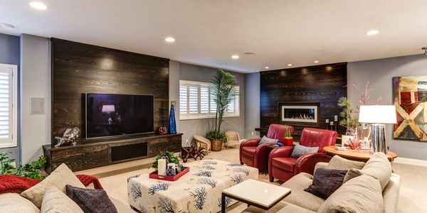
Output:
[[328,163],[331,158],[332,157],[330,155],[325,153],[309,153],[302,155],[295,163],[294,175],[297,175],[298,173],[309,173],[310,175],[313,175],[317,163]]

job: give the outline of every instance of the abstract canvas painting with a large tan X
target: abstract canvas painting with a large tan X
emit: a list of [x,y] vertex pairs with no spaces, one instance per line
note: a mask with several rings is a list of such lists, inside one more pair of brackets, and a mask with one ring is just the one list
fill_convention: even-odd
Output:
[[427,141],[427,75],[394,77],[397,124],[393,138]]

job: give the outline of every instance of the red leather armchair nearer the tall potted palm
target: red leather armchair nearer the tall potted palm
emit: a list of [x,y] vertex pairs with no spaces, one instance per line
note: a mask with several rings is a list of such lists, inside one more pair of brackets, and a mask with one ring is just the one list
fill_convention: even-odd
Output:
[[[270,124],[268,126],[268,138],[278,139],[283,143],[285,139],[285,125]],[[293,127],[290,126],[290,133],[293,132]],[[240,162],[243,165],[258,168],[260,172],[264,172],[268,168],[268,155],[266,154],[266,146],[273,145],[275,143],[264,143],[259,145],[260,138],[253,138],[243,141],[240,146]],[[259,145],[259,146],[258,146]]]

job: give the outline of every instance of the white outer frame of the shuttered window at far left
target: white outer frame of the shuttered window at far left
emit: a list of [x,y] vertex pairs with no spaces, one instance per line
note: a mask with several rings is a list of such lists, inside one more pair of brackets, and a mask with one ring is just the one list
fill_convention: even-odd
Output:
[[[0,138],[0,148],[11,148],[18,146],[18,66],[17,65],[8,65],[8,64],[0,64],[0,70],[8,70],[11,75],[9,79],[9,94],[12,97],[9,97],[9,138]],[[0,71],[3,72],[3,71]]]

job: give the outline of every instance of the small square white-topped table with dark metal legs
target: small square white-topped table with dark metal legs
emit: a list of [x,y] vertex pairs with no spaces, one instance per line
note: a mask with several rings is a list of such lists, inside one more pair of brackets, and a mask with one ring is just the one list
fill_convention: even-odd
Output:
[[290,189],[258,180],[245,180],[238,185],[223,190],[221,194],[221,212],[226,212],[226,197],[268,210],[280,200],[290,195]]

